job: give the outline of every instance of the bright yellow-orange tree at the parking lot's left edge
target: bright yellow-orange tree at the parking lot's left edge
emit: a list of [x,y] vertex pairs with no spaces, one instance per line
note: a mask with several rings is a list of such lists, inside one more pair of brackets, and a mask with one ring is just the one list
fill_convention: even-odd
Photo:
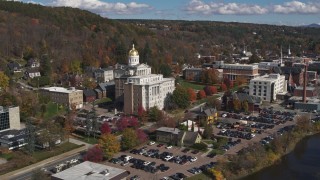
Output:
[[112,158],[114,154],[120,151],[120,143],[113,134],[103,134],[100,136],[99,147],[104,152],[104,157],[106,159]]

